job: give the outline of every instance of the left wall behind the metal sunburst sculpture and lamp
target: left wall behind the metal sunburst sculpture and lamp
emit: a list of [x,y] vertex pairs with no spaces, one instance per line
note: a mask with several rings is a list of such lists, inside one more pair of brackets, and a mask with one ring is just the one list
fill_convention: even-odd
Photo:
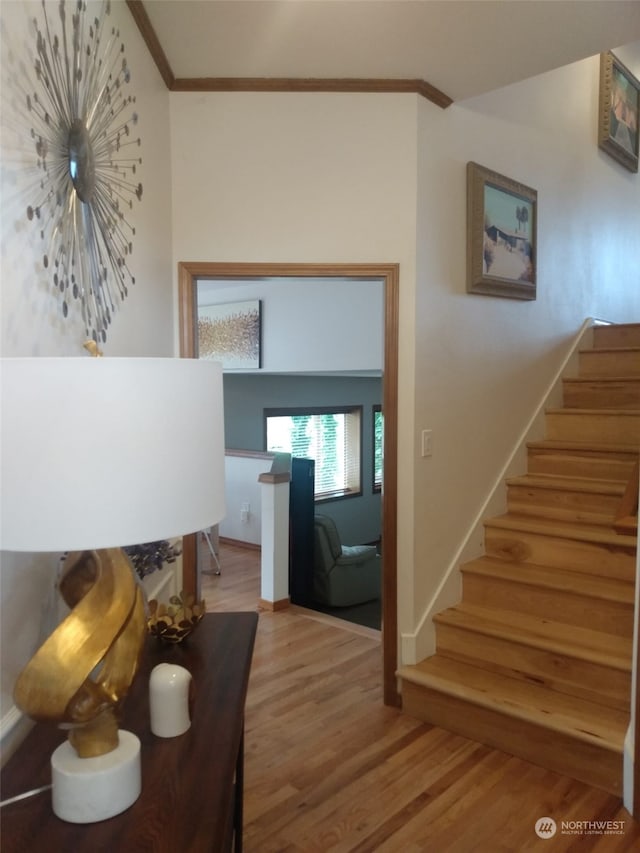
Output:
[[[50,22],[57,27],[58,4],[47,5]],[[101,3],[88,5],[96,14],[102,8]],[[67,4],[68,14],[69,9]],[[84,356],[84,326],[71,315],[67,320],[62,318],[42,265],[38,229],[27,221],[25,213],[33,202],[34,180],[39,179],[40,172],[35,168],[34,146],[29,138],[31,124],[25,92],[31,84],[25,80],[24,68],[33,54],[30,22],[34,17],[40,20],[41,15],[40,3],[3,0],[0,4],[1,350],[3,356]],[[137,97],[143,158],[137,177],[144,189],[142,201],[127,215],[136,228],[131,256],[136,284],[115,314],[103,350],[106,356],[167,356],[174,352],[168,94],[123,2],[112,3],[111,21],[120,29],[132,72],[131,92]],[[51,428],[59,432],[60,441],[72,452],[74,426],[65,422],[64,412],[52,412]],[[117,450],[104,448],[101,452]],[[25,474],[28,476],[28,472]],[[36,525],[38,519],[34,518],[33,523]],[[4,734],[6,722],[13,720],[11,691],[15,676],[33,654],[41,631],[52,627],[49,590],[57,555],[3,553],[1,557],[0,712]]]

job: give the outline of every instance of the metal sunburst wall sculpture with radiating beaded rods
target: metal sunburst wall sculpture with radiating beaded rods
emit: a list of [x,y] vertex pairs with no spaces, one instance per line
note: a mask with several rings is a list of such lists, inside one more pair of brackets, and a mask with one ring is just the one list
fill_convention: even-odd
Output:
[[[59,32],[54,30],[57,9]],[[49,15],[47,12],[49,11]],[[66,317],[78,304],[87,335],[104,342],[112,314],[135,278],[135,228],[127,214],[142,198],[135,97],[111,3],[93,17],[85,0],[42,0],[34,19],[36,80],[27,94],[41,171],[40,197],[27,216],[40,227],[43,264]]]

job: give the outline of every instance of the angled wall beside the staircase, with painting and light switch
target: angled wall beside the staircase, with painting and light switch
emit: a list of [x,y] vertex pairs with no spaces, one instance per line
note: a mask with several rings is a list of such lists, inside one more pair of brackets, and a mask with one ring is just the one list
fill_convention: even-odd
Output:
[[[405,626],[419,621],[584,318],[640,321],[640,175],[597,147],[598,75],[594,57],[445,112],[421,105],[416,571]],[[534,302],[465,292],[469,160],[538,191]],[[429,459],[418,456],[422,428],[433,430]]]

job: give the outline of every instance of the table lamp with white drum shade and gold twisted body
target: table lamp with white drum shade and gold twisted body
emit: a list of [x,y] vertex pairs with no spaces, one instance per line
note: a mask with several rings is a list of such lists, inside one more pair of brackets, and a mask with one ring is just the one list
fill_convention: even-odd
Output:
[[4,358],[3,551],[68,552],[69,615],[16,681],[14,699],[68,740],[52,755],[54,812],[74,823],[127,809],[140,741],[118,729],[146,633],[121,549],[224,516],[222,368],[177,358]]

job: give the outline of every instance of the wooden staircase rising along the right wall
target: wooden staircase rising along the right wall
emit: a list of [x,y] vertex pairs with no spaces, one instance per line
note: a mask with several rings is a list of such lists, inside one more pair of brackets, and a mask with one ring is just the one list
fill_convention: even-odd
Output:
[[484,556],[461,566],[462,602],[434,618],[436,654],[398,676],[407,713],[620,795],[640,324],[595,327],[563,385],[527,474],[507,481],[507,513],[485,523]]

